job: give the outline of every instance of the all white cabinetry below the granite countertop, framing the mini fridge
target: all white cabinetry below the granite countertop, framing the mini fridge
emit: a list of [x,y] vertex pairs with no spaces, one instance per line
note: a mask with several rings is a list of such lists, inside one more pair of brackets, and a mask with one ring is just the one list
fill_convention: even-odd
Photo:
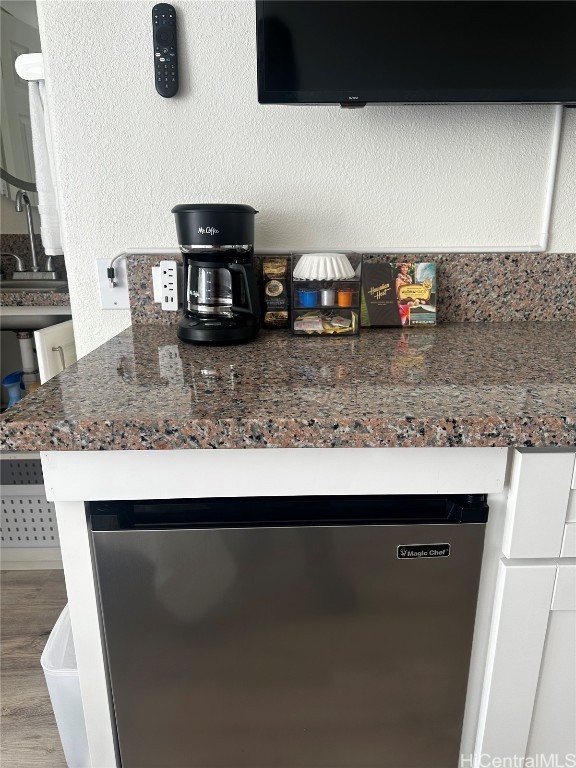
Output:
[[[527,768],[534,755],[547,762],[533,766],[568,768],[566,758],[576,752],[576,559],[565,547],[566,527],[576,523],[576,452],[511,451],[508,483],[506,449],[336,453],[347,467],[339,476],[343,494],[489,494],[462,768]],[[249,496],[255,483],[262,495],[290,495],[295,477],[301,493],[331,493],[334,457],[334,449],[312,448],[42,454],[47,495],[56,502],[92,768],[112,768],[116,757],[84,502],[200,498],[214,488],[221,496]],[[550,762],[550,755],[558,759]]]

